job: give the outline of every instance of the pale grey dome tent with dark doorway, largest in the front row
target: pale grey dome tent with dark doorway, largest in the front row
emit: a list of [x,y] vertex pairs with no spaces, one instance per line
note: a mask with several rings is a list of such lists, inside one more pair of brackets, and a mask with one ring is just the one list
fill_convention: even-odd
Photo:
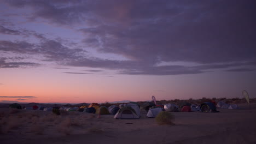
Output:
[[135,119],[139,118],[136,114],[135,110],[132,109],[131,106],[124,106],[115,114],[114,118],[121,118],[121,119]]

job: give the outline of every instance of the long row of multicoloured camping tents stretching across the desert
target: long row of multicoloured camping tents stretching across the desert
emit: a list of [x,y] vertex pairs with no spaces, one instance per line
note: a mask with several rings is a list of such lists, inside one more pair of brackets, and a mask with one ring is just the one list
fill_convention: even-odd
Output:
[[[227,104],[218,103],[217,107],[223,107]],[[229,107],[232,105],[229,105]],[[11,104],[11,108],[21,109],[19,104]],[[179,110],[179,107],[181,110]],[[234,106],[235,107],[235,106]],[[236,109],[237,107],[235,107]],[[144,103],[142,106],[139,106],[137,103],[121,104],[119,106],[112,105],[109,107],[100,106],[97,103],[92,103],[89,106],[80,106],[80,107],[38,107],[32,106],[27,107],[27,109],[33,110],[44,110],[52,111],[53,109],[60,109],[65,111],[81,111],[88,113],[96,113],[101,115],[114,115],[114,118],[124,118],[124,119],[133,119],[139,118],[141,115],[141,109],[147,111],[147,117],[156,117],[161,111],[170,111],[170,112],[192,112],[192,111],[201,111],[201,112],[217,112],[216,106],[211,103],[202,103],[200,106],[194,104],[185,103],[182,106],[177,106],[175,104],[165,104],[165,105],[155,105],[153,103]]]

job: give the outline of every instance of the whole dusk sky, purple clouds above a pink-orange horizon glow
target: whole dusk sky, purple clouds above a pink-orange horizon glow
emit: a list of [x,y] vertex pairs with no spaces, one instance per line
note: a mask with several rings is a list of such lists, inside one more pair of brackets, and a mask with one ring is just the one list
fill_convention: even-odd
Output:
[[0,103],[256,98],[256,2],[0,1]]

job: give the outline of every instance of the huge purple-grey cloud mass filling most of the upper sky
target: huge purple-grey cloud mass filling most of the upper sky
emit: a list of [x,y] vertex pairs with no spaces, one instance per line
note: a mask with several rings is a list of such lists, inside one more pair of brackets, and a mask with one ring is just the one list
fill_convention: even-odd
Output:
[[[89,58],[83,49],[71,49],[61,40],[36,33],[39,44],[0,41],[2,51],[37,53],[61,65],[114,69],[131,75],[200,74],[208,69],[255,67],[252,0],[6,2],[14,8],[30,8],[29,21],[43,19],[49,25],[72,27],[84,34],[85,47],[128,60]],[[156,66],[161,62],[200,65]]]

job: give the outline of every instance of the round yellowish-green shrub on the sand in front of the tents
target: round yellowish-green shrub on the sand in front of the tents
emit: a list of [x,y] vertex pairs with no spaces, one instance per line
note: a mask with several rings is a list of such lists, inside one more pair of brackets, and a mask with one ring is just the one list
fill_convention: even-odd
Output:
[[167,111],[161,111],[156,117],[155,121],[159,125],[173,125],[174,123],[174,115]]

